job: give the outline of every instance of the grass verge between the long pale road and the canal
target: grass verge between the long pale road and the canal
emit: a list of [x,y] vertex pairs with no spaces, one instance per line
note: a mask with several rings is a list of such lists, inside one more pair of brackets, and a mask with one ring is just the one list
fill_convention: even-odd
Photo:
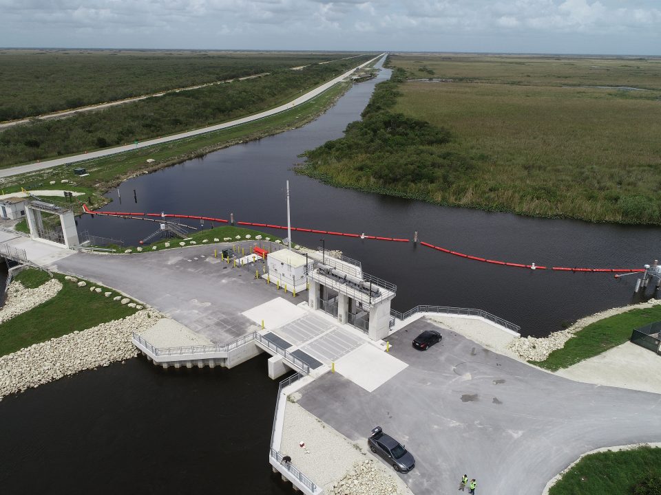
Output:
[[[335,85],[323,94],[313,98],[313,100],[291,110],[229,129],[223,129],[222,131],[187,137],[182,140],[76,163],[76,167],[82,166],[87,169],[87,173],[90,175],[86,177],[74,175],[73,166],[58,166],[39,172],[7,177],[2,180],[2,188],[5,193],[17,192],[21,190],[21,187],[84,192],[83,196],[74,198],[74,201],[76,201],[74,212],[81,213],[82,206],[79,201],[87,202],[87,205],[92,209],[103,206],[107,203],[107,199],[103,197],[107,190],[135,175],[153,172],[166,166],[185,162],[232,144],[260,139],[261,137],[302,126],[331,107],[348,87],[350,85]],[[154,159],[155,161],[149,164],[147,159]],[[70,182],[62,184],[62,180]],[[49,184],[50,181],[55,181],[55,184]],[[65,203],[64,197],[44,197],[44,200]]]

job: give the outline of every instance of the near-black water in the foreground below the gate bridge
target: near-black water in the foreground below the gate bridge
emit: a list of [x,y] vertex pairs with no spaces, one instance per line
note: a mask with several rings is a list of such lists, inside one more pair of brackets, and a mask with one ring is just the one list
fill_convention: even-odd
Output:
[[0,403],[0,487],[16,494],[290,494],[269,465],[277,381],[145,358]]

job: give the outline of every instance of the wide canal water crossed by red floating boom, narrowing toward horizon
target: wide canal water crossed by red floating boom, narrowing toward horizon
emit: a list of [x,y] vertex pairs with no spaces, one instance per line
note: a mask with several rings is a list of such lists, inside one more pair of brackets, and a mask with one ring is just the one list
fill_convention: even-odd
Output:
[[[508,213],[446,208],[419,201],[333,188],[295,175],[292,166],[307,149],[342,136],[360,118],[374,86],[390,77],[355,85],[315,122],[286,133],[247,142],[126,181],[107,210],[209,215],[286,224],[284,186],[291,187],[295,226],[412,239],[488,259],[567,267],[640,267],[661,255],[660,228],[534,219]],[[134,203],[133,190],[138,203]],[[191,225],[200,228],[199,224]],[[83,216],[80,230],[123,239],[128,244],[154,232],[152,222]],[[204,225],[208,228],[211,225]],[[266,230],[266,229],[264,229]],[[271,231],[282,236],[283,231]],[[311,248],[319,234],[293,233]],[[565,273],[487,265],[412,243],[387,243],[326,236],[326,248],[362,261],[370,274],[395,283],[392,307],[415,305],[474,307],[521,325],[523,335],[543,336],[582,316],[627,305],[635,277]],[[648,289],[647,296],[651,294]]]

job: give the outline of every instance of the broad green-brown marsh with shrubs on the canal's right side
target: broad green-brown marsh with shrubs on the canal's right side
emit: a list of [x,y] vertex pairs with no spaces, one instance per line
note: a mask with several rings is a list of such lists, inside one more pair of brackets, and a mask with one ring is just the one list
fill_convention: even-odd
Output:
[[344,140],[308,153],[308,175],[450,206],[661,224],[661,59],[439,54],[388,61],[400,72],[390,87],[395,98],[380,110],[445,129],[447,139],[350,124]]

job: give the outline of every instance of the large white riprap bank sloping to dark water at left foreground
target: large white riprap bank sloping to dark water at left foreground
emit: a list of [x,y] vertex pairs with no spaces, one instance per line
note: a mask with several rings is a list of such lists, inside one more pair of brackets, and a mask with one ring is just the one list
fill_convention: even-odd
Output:
[[145,309],[0,357],[0,399],[78,371],[134,358],[138,350],[131,342],[132,332],[141,333],[160,318],[157,311]]

